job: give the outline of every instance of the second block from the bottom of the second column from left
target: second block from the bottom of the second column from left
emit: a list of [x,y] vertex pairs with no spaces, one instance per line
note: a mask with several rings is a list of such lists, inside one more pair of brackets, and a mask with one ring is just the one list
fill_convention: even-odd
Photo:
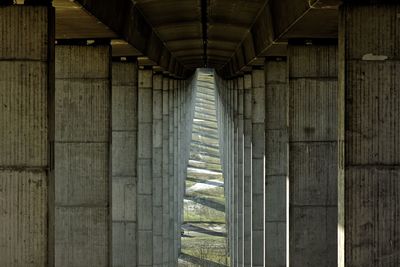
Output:
[[107,205],[108,145],[56,143],[56,205]]

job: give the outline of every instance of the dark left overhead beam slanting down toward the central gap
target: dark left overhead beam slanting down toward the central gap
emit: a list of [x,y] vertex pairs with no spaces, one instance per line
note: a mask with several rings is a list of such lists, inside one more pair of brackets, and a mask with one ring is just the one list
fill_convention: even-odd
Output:
[[[180,74],[186,72],[184,65],[170,55],[133,1],[77,0],[77,2],[151,61],[157,65],[168,65],[169,68],[166,70],[171,75],[181,77]],[[167,58],[170,61],[168,64],[165,62]]]

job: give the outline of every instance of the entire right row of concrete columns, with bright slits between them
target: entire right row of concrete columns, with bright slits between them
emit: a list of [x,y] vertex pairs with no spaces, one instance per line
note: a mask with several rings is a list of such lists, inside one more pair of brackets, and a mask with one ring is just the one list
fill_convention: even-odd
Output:
[[232,266],[399,264],[395,10],[217,78]]

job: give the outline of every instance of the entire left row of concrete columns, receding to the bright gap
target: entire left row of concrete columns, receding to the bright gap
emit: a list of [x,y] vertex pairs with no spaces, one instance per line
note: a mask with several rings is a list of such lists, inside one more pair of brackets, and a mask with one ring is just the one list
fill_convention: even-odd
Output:
[[177,266],[191,81],[0,13],[0,265]]

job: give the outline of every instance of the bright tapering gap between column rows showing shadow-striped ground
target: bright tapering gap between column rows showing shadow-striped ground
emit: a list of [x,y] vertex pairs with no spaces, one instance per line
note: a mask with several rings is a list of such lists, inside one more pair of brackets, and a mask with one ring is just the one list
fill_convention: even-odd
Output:
[[196,75],[179,266],[228,266],[214,70],[199,69]]

